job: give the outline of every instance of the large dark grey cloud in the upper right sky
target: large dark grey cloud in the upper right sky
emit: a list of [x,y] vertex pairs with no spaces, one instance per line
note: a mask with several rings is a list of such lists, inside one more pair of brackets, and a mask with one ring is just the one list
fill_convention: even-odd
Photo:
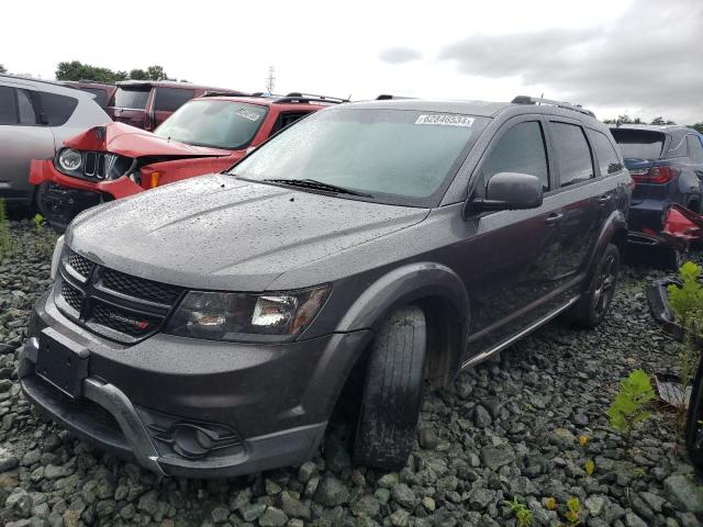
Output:
[[636,1],[610,24],[510,35],[476,34],[440,60],[479,77],[517,77],[553,99],[703,121],[703,2]]

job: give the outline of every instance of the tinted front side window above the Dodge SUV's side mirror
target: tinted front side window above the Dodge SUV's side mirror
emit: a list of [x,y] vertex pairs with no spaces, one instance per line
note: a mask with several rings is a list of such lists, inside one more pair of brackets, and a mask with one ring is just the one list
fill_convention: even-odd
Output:
[[520,123],[498,141],[481,167],[483,181],[499,172],[521,172],[537,176],[542,188],[549,190],[549,170],[542,125],[536,121]]

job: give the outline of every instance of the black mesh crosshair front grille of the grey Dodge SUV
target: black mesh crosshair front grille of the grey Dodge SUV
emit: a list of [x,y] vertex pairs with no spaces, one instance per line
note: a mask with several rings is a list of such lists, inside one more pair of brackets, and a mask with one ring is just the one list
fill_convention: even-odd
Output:
[[133,344],[161,327],[182,291],[176,285],[108,269],[70,250],[62,268],[58,287],[62,301],[57,306],[93,333]]

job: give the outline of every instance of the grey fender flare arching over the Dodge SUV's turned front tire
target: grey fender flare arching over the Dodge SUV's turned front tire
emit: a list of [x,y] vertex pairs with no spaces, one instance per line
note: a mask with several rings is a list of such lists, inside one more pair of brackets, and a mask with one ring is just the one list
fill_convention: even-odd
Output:
[[337,324],[336,332],[375,330],[395,309],[431,298],[447,302],[459,317],[460,345],[449,350],[450,369],[456,374],[467,345],[470,304],[464,281],[447,266],[420,261],[389,271],[352,304]]

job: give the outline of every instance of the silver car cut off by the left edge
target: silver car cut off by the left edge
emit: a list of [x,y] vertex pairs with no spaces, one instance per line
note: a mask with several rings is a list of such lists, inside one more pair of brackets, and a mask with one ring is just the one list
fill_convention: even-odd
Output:
[[0,75],[0,199],[32,204],[30,161],[54,157],[65,139],[110,121],[89,93]]

